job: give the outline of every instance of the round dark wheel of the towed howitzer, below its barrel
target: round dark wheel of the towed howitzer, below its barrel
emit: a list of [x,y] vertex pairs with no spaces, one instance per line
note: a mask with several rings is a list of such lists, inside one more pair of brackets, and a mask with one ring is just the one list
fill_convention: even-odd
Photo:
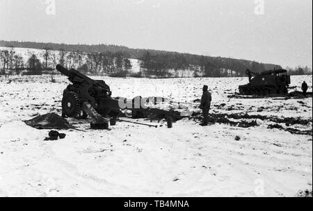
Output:
[[81,103],[75,92],[67,92],[62,99],[62,113],[67,117],[78,117],[81,113]]

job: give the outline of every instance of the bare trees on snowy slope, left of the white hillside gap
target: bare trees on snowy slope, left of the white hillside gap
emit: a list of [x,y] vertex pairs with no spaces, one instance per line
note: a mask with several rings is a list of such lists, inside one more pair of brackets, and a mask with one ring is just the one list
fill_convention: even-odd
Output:
[[78,69],[83,74],[109,74],[110,76],[126,76],[131,69],[127,53],[85,53],[82,51],[65,51],[60,49],[42,49],[39,53],[29,51],[26,60],[14,50],[14,47],[0,51],[1,74],[52,73],[57,64],[67,69]]

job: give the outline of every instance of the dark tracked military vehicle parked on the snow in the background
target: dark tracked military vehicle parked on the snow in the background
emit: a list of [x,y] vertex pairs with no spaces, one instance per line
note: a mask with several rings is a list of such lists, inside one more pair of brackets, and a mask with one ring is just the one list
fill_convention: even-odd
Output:
[[286,69],[273,69],[255,73],[246,70],[249,83],[239,86],[239,93],[246,95],[288,94],[290,76]]

